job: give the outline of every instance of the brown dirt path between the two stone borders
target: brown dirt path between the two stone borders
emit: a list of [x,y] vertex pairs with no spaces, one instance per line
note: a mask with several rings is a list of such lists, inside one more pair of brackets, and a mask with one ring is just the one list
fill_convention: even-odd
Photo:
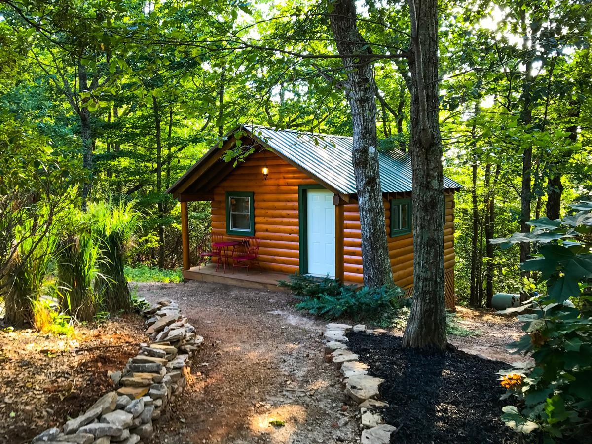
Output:
[[[156,427],[155,443],[355,443],[338,372],[324,361],[321,321],[287,292],[218,284],[139,284],[169,297],[204,336],[188,388]],[[272,423],[277,421],[277,425]]]

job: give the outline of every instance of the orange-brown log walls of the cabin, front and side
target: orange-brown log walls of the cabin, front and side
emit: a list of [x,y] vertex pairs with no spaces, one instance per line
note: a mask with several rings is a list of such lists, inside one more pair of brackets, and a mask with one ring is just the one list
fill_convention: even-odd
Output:
[[[299,270],[298,185],[314,185],[316,182],[273,153],[268,152],[265,156],[269,167],[267,180],[263,179],[261,172],[264,165],[263,153],[254,153],[214,188],[212,230],[230,239],[240,240],[242,236],[231,236],[226,233],[226,192],[253,191],[255,236],[261,239],[258,262],[262,269],[294,274]],[[395,284],[408,290],[413,285],[413,236],[404,234],[390,237],[390,200],[384,200],[384,207],[393,278]],[[453,212],[454,197],[449,193],[446,194],[444,228],[446,272],[452,271],[455,265]],[[345,204],[343,218],[345,280],[362,283],[358,204]],[[454,289],[449,285],[446,287],[449,300]]]

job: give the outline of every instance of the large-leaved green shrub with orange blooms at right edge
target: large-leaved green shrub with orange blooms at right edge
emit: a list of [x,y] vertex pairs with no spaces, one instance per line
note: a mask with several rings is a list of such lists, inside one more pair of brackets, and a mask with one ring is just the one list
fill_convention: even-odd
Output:
[[[504,409],[502,419],[522,433],[539,430],[545,442],[584,442],[592,421],[592,203],[573,205],[578,213],[562,220],[532,221],[532,233],[517,233],[496,242],[504,246],[535,242],[538,258],[523,269],[536,271],[547,292],[520,308],[526,334],[510,344],[527,353],[534,366],[515,365],[500,372],[516,397],[517,407]],[[514,376],[517,384],[508,384]]]

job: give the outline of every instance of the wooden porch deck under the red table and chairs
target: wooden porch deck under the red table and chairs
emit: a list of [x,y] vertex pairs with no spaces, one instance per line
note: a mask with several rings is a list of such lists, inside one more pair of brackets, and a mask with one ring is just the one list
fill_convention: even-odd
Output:
[[232,274],[232,268],[226,268],[226,273],[222,272],[222,267],[215,271],[215,263],[208,263],[199,267],[192,267],[183,271],[183,277],[192,281],[215,282],[217,284],[237,285],[238,287],[267,289],[276,291],[287,291],[288,288],[278,287],[278,281],[288,281],[289,275],[282,273],[272,273],[259,271],[258,268],[249,270],[249,275],[244,268],[238,269]]

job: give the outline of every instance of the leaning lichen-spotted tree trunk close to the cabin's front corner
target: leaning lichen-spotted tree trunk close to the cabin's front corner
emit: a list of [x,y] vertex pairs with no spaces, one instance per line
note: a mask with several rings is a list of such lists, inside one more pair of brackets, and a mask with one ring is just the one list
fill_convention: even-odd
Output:
[[359,54],[356,62],[351,56],[343,57],[348,76],[345,89],[352,110],[352,163],[362,228],[364,285],[380,287],[392,284],[392,271],[378,172],[376,84],[372,64],[368,63],[372,52],[358,31],[353,0],[337,0],[329,17],[339,53]]

